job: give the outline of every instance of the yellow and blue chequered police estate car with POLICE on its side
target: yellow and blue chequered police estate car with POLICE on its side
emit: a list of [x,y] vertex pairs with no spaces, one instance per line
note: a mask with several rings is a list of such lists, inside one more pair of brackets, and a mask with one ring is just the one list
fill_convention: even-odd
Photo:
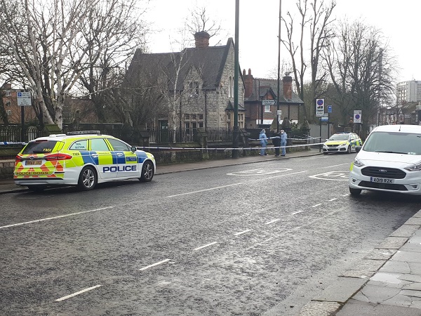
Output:
[[55,134],[31,140],[15,159],[16,185],[41,191],[51,185],[93,190],[97,183],[154,177],[154,155],[100,131]]

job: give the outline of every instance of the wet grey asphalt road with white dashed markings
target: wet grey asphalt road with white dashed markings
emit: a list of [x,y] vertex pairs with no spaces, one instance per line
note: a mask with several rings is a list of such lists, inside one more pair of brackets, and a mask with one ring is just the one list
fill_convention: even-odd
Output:
[[0,315],[294,315],[420,209],[354,155],[3,195]]

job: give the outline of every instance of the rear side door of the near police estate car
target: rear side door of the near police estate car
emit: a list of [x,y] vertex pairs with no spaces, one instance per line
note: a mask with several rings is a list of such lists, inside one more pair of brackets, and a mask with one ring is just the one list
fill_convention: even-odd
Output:
[[118,164],[112,156],[108,144],[104,138],[91,139],[91,158],[98,172],[98,176],[104,180],[115,179],[118,176]]

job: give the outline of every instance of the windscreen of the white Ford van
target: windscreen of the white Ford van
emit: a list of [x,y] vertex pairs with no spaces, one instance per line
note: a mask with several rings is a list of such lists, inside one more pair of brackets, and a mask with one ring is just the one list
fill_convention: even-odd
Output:
[[366,152],[421,154],[421,134],[372,132],[363,145]]

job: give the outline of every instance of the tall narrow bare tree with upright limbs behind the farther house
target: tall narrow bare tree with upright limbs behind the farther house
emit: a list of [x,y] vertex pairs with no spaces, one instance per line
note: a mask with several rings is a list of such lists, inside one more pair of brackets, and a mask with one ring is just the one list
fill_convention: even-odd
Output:
[[[327,77],[327,72],[319,73],[319,71],[323,69],[320,65],[320,55],[323,50],[328,48],[329,39],[334,37],[330,25],[333,22],[331,15],[336,3],[333,0],[330,1],[329,4],[325,4],[324,0],[314,0],[309,4],[308,0],[298,0],[296,6],[300,14],[300,33],[298,36],[300,44],[295,44],[295,22],[293,15],[291,15],[289,11],[286,14],[288,22],[283,19],[286,27],[286,39],[281,39],[281,41],[290,55],[295,86],[297,88],[297,93],[302,100],[305,99],[303,88],[306,78],[307,62],[309,62],[311,71],[310,92],[312,94],[312,99],[314,100],[323,94],[323,91],[321,91],[323,85],[321,83],[326,80]],[[307,39],[305,34],[308,28],[309,38]],[[309,41],[309,55],[306,55],[307,41]],[[310,106],[310,108],[312,107]],[[312,113],[312,111],[309,113]],[[307,114],[307,110],[305,110],[305,118],[310,118]]]

